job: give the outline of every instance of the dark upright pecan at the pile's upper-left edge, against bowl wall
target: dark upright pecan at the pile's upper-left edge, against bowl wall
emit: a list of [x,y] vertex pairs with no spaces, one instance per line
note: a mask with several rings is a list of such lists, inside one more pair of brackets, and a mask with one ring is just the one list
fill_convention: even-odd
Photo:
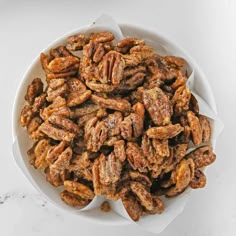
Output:
[[25,100],[33,104],[34,99],[43,93],[43,82],[40,78],[35,78],[27,88]]

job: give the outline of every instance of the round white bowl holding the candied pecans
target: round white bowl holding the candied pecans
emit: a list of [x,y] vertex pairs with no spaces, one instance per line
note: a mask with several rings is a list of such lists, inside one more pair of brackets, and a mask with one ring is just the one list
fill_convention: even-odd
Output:
[[[164,36],[157,33],[155,29],[147,29],[146,26],[134,26],[130,24],[120,24],[119,25],[124,36],[126,37],[138,37],[143,38],[146,40],[147,44],[151,44],[154,48],[158,45],[169,45],[169,54],[171,52],[175,52],[174,54],[180,57],[184,57],[188,62],[191,63],[192,67],[194,68],[195,72],[195,82],[194,88],[195,91],[200,95],[211,107],[213,112],[216,113],[216,104],[215,100],[211,91],[211,88],[208,84],[207,79],[205,78],[204,74],[195,63],[195,61],[181,48],[176,46],[173,42],[165,38]],[[66,38],[70,35],[76,33],[83,33],[86,32],[89,26],[85,26],[76,30],[73,30],[62,37],[58,38],[52,44],[50,44],[43,52],[47,53],[50,48],[56,47],[58,45],[63,45],[66,42]],[[40,53],[39,53],[40,54]],[[99,210],[92,209],[89,211],[78,212],[76,209],[73,209],[66,204],[64,204],[60,200],[58,188],[52,187],[46,180],[45,175],[38,170],[35,170],[31,165],[28,163],[28,156],[27,150],[32,146],[32,141],[27,135],[25,129],[23,129],[20,125],[19,117],[21,113],[21,109],[23,108],[25,101],[24,95],[27,90],[28,84],[32,81],[33,78],[40,77],[44,78],[44,71],[42,70],[39,56],[34,59],[32,64],[29,66],[27,71],[25,72],[20,86],[18,88],[15,103],[14,103],[14,110],[13,110],[13,153],[16,160],[16,163],[26,175],[26,177],[30,180],[33,186],[50,202],[52,202],[55,206],[63,209],[67,212],[73,212],[79,214],[82,217],[86,217],[89,220],[92,220],[96,223],[107,224],[107,225],[121,225],[121,224],[128,224],[129,221],[125,218],[119,216],[114,212],[109,213],[102,213]],[[182,211],[182,210],[181,210]],[[178,214],[181,212],[178,212]],[[178,215],[176,214],[176,216]]]

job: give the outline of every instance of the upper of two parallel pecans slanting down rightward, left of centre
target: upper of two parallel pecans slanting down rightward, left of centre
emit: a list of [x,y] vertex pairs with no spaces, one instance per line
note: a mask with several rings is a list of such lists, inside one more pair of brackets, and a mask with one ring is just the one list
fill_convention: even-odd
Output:
[[81,135],[81,130],[79,129],[78,125],[76,125],[70,119],[67,119],[60,115],[51,115],[48,120],[52,124],[64,128],[65,130],[74,133],[75,135]]

